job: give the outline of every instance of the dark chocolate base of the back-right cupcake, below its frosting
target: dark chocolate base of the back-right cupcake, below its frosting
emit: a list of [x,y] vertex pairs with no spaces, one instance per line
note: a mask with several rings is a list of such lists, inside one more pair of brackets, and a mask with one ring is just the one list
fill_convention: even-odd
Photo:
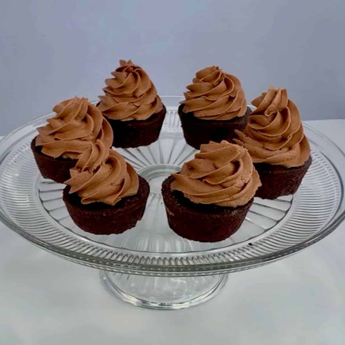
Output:
[[201,144],[208,144],[210,140],[220,142],[227,140],[231,142],[237,138],[235,129],[243,131],[248,123],[250,108],[247,107],[246,114],[241,117],[235,117],[231,120],[203,120],[195,117],[193,112],[184,113],[184,105],[178,107],[184,137],[187,144],[196,149]]

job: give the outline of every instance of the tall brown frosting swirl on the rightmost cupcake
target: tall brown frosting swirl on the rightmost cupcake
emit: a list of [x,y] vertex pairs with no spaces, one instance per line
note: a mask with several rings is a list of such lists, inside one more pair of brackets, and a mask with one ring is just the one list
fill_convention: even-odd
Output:
[[234,141],[248,149],[254,163],[286,168],[303,165],[310,156],[310,146],[299,111],[288,99],[286,89],[270,86],[252,104],[257,108],[250,114],[245,130],[236,130],[239,139]]

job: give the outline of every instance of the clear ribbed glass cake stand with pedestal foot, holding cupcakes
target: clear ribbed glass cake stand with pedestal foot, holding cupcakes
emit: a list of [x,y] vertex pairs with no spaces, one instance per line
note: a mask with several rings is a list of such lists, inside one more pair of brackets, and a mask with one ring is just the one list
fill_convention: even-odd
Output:
[[331,233],[344,219],[344,153],[304,125],[313,164],[293,196],[255,198],[240,229],[217,243],[174,233],[167,223],[161,183],[196,150],[184,140],[177,115],[181,97],[162,96],[167,108],[159,140],[118,151],[146,178],[150,195],[144,217],[120,235],[92,235],[71,220],[64,185],[42,178],[30,142],[52,114],[13,131],[0,142],[0,220],[40,248],[98,268],[103,285],[133,305],[180,309],[214,297],[228,273],[294,254]]

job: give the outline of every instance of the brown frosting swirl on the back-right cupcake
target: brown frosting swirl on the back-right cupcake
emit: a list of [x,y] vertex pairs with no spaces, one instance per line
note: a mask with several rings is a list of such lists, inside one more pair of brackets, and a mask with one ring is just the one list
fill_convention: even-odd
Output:
[[192,111],[204,120],[231,120],[244,116],[246,98],[240,81],[223,72],[218,66],[206,67],[196,72],[193,84],[187,86],[183,112]]

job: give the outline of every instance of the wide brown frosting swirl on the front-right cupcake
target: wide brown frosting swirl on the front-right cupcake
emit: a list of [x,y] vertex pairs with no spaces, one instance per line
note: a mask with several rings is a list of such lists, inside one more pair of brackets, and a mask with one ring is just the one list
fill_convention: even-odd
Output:
[[201,145],[200,153],[173,176],[171,190],[196,204],[243,206],[261,186],[248,151],[225,140]]

